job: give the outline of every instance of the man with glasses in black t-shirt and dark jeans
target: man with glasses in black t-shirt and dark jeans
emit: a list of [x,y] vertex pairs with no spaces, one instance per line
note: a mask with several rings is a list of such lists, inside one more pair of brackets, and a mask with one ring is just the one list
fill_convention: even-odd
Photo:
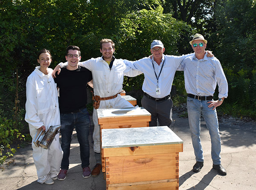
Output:
[[74,127],[76,127],[77,138],[80,144],[81,167],[83,177],[91,176],[89,167],[89,114],[86,109],[87,93],[86,84],[92,80],[92,73],[78,66],[81,60],[81,52],[77,46],[68,46],[66,51],[68,66],[57,75],[55,83],[59,87],[59,108],[61,113],[61,148],[63,158],[58,180],[64,180],[69,169],[70,143]]

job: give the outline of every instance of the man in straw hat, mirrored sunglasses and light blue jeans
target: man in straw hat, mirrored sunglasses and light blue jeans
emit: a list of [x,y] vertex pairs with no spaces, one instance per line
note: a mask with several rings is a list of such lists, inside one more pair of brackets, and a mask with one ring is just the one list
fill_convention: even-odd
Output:
[[[228,84],[221,63],[217,58],[207,57],[205,48],[207,40],[200,34],[195,34],[189,42],[194,54],[185,58],[178,70],[184,70],[185,88],[187,92],[187,109],[192,144],[194,147],[196,163],[194,172],[199,172],[204,166],[203,149],[200,139],[200,119],[204,117],[209,130],[212,144],[213,169],[221,175],[227,171],[221,165],[221,138],[218,129],[216,107],[227,98]],[[218,83],[218,100],[213,100],[216,84]]]

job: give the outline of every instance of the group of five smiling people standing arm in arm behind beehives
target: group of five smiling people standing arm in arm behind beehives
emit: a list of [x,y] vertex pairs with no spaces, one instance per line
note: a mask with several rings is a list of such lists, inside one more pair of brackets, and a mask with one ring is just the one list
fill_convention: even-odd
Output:
[[[184,71],[185,88],[188,93],[187,107],[192,144],[196,164],[194,172],[204,165],[200,140],[200,119],[203,115],[212,141],[213,168],[221,175],[227,172],[221,165],[221,140],[218,130],[216,107],[227,98],[227,80],[218,59],[205,51],[207,40],[196,34],[189,42],[194,53],[182,56],[164,55],[165,48],[160,40],[151,43],[151,56],[137,61],[116,59],[115,44],[110,39],[100,41],[102,57],[80,62],[81,52],[77,46],[68,46],[66,63],[49,69],[52,61],[47,49],[38,54],[40,66],[29,75],[26,83],[26,116],[30,135],[35,138],[41,128],[47,131],[51,125],[61,124],[61,145],[58,134],[51,147],[46,150],[33,148],[38,182],[53,184],[55,179],[64,180],[69,169],[70,143],[74,128],[80,144],[83,177],[98,176],[101,165],[100,127],[96,109],[133,107],[121,97],[123,76],[134,77],[144,73],[144,96],[142,106],[151,113],[149,126],[170,126],[172,123],[172,99],[170,92],[176,70]],[[62,69],[60,69],[62,68]],[[93,81],[92,81],[93,80]],[[89,114],[87,112],[87,83],[93,87],[93,150],[96,165],[90,170]],[[213,100],[218,83],[219,99]],[[59,89],[59,99],[58,92]]]

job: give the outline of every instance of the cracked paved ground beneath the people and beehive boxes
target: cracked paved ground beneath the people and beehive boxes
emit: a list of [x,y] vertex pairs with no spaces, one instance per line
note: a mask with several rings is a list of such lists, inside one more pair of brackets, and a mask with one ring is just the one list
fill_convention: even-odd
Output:
[[[256,123],[243,122],[234,118],[219,119],[221,133],[221,161],[227,176],[219,175],[212,169],[210,138],[204,121],[201,125],[201,140],[204,149],[204,167],[199,173],[192,171],[195,156],[191,144],[188,119],[173,115],[171,129],[184,141],[180,153],[180,190],[256,190]],[[91,139],[90,139],[91,142]],[[95,165],[93,144],[90,144],[90,168]],[[46,185],[37,182],[37,174],[32,158],[32,147],[19,149],[14,163],[3,165],[0,171],[1,190],[105,190],[105,180],[101,173],[97,177],[82,177],[79,144],[74,131],[70,170],[64,181]]]

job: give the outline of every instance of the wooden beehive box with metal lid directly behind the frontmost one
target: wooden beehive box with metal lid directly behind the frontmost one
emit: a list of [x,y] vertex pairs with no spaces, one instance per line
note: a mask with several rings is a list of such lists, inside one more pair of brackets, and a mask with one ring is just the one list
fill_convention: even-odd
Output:
[[[97,116],[100,131],[102,129],[148,127],[149,121],[151,121],[151,114],[143,107],[97,109]],[[102,172],[105,172],[105,159],[103,156]]]

